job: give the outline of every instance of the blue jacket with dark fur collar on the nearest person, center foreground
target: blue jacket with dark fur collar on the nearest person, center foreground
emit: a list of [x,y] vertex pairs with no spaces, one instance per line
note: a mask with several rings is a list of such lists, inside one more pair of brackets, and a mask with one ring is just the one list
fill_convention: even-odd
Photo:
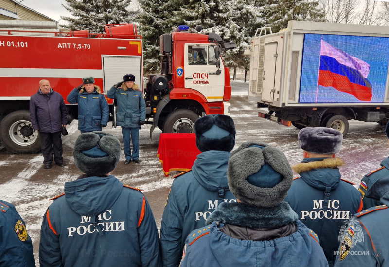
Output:
[[[249,212],[239,209],[242,205],[222,203],[210,216],[216,221],[190,233],[181,267],[328,266],[316,234],[297,220],[287,203],[280,204],[282,209],[251,207]],[[236,214],[225,212],[227,206]]]

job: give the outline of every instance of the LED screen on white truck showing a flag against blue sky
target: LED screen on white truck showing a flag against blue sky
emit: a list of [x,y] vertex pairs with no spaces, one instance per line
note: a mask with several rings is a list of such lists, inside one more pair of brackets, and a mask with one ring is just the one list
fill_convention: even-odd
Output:
[[389,38],[305,34],[300,103],[383,102]]

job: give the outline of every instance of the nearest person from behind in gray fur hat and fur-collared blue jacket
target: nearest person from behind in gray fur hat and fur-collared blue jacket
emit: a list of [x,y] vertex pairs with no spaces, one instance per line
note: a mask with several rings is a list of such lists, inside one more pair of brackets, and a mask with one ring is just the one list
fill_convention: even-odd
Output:
[[230,156],[237,203],[221,203],[186,239],[181,267],[326,267],[315,232],[283,199],[293,173],[283,152],[245,142]]

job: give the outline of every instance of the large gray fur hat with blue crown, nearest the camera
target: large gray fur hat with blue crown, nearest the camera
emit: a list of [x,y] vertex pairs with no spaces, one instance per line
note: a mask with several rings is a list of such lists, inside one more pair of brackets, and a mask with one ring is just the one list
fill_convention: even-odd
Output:
[[293,172],[281,150],[248,141],[231,153],[227,179],[230,191],[242,203],[275,207],[285,199]]

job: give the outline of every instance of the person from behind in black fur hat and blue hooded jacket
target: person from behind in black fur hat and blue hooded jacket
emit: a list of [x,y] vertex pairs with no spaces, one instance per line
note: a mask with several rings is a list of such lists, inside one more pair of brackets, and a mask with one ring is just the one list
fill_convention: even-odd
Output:
[[227,164],[235,145],[235,125],[227,115],[207,115],[195,122],[197,155],[192,170],[172,184],[160,229],[162,265],[177,267],[185,239],[222,202],[235,202],[227,182]]

